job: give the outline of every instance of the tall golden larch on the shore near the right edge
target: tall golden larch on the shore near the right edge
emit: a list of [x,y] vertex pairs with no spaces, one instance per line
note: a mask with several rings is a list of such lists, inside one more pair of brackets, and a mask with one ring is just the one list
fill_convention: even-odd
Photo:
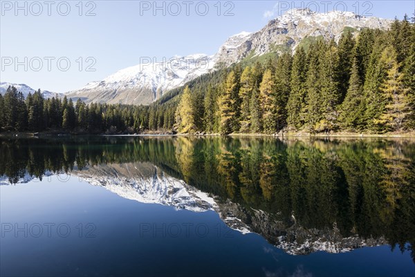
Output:
[[386,78],[380,87],[385,101],[385,109],[379,119],[376,119],[376,123],[382,126],[382,131],[398,131],[402,129],[403,123],[411,111],[409,97],[403,83],[403,74],[399,72],[394,49],[385,48],[382,60],[385,62],[387,70]]

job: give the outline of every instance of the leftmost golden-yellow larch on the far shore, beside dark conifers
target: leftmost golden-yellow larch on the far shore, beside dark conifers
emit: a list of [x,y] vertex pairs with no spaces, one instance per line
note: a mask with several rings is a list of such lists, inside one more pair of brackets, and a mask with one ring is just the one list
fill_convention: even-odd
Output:
[[176,115],[178,132],[190,134],[196,132],[192,93],[188,86],[185,87],[185,90],[183,91],[181,100],[177,107]]

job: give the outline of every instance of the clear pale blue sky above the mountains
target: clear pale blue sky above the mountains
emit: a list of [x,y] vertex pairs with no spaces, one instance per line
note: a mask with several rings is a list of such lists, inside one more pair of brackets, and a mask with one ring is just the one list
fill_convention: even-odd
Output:
[[[370,1],[370,5],[368,1],[358,1],[356,5],[356,0],[328,4],[324,1],[220,1],[219,4],[218,1],[82,1],[82,5],[78,4],[80,1],[67,1],[70,11],[64,1],[52,2],[46,4],[40,0],[39,6],[33,1],[19,1],[23,7],[19,10],[14,0],[0,1],[2,82],[65,92],[139,64],[140,57],[160,62],[163,57],[168,60],[174,55],[212,55],[230,35],[261,29],[268,20],[284,12],[287,5],[301,7],[313,2],[321,12],[324,5],[329,10],[336,6],[337,10],[346,8],[351,12],[359,7],[360,14],[366,11],[367,15],[390,19],[401,19],[405,13],[412,17],[414,13],[413,0]],[[162,8],[156,10],[155,5]],[[316,5],[310,4],[310,8],[315,10]],[[88,11],[92,16],[86,16]],[[66,57],[60,61],[61,69],[57,64],[59,57]],[[82,70],[79,57],[83,61]],[[86,60],[87,57],[93,59]],[[66,66],[67,60],[71,66]],[[16,70],[17,61],[27,64],[27,71],[24,65]],[[88,65],[96,70],[86,71]],[[65,68],[68,71],[62,70]]]

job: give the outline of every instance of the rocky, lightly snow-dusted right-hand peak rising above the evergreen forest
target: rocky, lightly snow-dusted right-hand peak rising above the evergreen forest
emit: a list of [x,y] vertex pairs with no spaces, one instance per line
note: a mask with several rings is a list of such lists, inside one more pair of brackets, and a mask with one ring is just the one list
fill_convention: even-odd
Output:
[[255,57],[270,52],[282,53],[295,51],[304,39],[308,37],[323,37],[324,39],[340,39],[344,30],[352,33],[362,28],[387,29],[390,19],[378,17],[363,17],[353,12],[313,12],[309,9],[293,9],[284,15],[272,19],[256,33],[246,36],[237,48],[229,51],[221,48],[216,57],[227,61],[228,65],[239,62],[246,57]]

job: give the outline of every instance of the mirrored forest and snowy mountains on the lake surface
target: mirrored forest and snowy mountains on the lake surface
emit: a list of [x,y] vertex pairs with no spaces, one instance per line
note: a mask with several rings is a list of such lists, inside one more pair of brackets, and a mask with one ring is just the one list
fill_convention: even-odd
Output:
[[94,137],[0,143],[3,184],[71,172],[140,202],[213,209],[231,228],[259,233],[288,253],[390,244],[414,258],[414,141]]

